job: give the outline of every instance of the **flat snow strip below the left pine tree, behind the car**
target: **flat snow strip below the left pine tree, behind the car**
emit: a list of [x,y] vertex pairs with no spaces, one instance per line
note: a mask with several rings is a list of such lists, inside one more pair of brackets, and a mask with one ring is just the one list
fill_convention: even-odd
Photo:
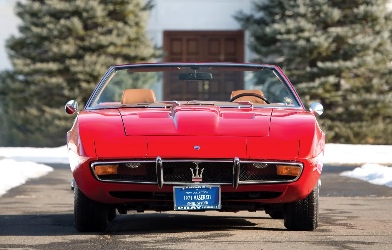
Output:
[[58,148],[0,147],[0,158],[38,163],[69,164],[67,145]]

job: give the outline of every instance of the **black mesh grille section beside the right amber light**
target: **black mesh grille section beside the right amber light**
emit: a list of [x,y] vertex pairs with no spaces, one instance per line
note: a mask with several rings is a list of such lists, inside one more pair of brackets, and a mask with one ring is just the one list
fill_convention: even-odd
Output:
[[240,181],[290,181],[297,176],[276,174],[277,164],[241,163]]

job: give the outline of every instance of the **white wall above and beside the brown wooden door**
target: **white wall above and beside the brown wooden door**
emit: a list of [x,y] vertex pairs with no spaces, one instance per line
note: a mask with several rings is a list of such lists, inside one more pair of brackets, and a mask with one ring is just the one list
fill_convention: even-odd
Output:
[[[252,0],[154,0],[148,33],[158,47],[163,47],[163,31],[222,31],[239,30],[233,15],[240,10],[249,13]],[[244,60],[249,62],[247,33]]]

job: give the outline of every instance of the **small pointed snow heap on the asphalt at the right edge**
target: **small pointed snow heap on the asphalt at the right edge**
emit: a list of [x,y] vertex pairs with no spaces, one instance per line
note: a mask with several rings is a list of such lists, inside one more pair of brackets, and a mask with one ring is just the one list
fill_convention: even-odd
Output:
[[367,181],[376,185],[392,187],[392,167],[368,163],[354,168],[352,171],[342,172],[340,175]]

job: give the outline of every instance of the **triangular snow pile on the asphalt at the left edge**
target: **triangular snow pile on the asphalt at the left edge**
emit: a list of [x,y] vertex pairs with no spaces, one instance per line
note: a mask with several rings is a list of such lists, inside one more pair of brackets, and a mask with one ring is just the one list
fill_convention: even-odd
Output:
[[29,179],[39,178],[52,172],[53,168],[31,161],[0,160],[0,196],[8,190],[24,184]]

